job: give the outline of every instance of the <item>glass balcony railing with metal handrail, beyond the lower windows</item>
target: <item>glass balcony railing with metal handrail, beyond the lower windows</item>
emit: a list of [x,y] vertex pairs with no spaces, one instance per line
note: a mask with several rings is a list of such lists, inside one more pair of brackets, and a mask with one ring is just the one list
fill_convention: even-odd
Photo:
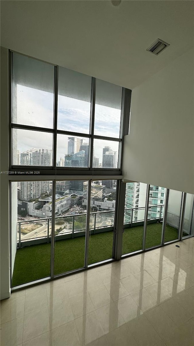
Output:
[[[150,217],[155,222],[163,218],[164,204],[149,207],[157,208],[153,211],[155,217]],[[144,221],[145,207],[125,208],[124,225],[130,227]],[[104,231],[113,231],[115,210],[97,211],[90,213],[90,234]],[[86,232],[86,213],[56,216],[55,239],[74,238]],[[18,221],[17,247],[51,241],[51,217],[33,220]]]

